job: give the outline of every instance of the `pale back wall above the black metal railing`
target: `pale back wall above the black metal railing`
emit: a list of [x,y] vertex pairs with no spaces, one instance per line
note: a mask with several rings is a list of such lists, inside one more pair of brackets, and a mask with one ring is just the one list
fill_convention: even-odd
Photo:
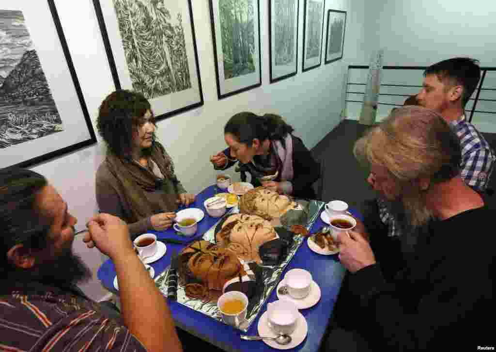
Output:
[[496,66],[494,0],[368,1],[368,51],[383,47],[384,65],[428,66],[471,56]]

